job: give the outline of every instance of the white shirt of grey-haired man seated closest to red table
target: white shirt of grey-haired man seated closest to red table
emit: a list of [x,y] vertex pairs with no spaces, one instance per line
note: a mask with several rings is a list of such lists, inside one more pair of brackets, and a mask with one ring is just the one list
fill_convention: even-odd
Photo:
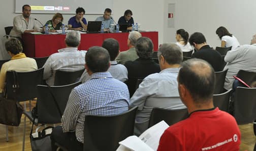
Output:
[[84,69],[85,52],[78,51],[76,47],[67,47],[52,54],[44,65],[44,79],[48,85],[54,84],[56,70],[77,71]]

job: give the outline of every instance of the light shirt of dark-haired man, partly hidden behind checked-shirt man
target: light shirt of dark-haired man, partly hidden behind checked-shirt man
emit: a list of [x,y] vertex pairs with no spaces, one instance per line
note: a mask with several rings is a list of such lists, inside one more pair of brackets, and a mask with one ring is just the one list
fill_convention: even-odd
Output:
[[[111,64],[111,66],[109,67],[108,72],[110,72],[110,74],[113,76],[113,78],[115,78],[119,81],[122,81],[122,82],[124,82],[128,79],[128,71],[124,65],[117,64],[116,61],[111,61],[110,64]],[[84,70],[84,72],[80,78],[80,81],[82,81],[82,83],[84,83],[89,79],[90,79],[89,74],[87,73],[86,70]]]

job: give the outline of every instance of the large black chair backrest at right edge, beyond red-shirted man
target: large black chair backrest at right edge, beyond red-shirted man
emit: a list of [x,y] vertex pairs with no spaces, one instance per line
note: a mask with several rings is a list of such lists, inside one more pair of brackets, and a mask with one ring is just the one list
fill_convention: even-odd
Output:
[[256,120],[256,88],[237,87],[234,99],[234,117],[238,124]]

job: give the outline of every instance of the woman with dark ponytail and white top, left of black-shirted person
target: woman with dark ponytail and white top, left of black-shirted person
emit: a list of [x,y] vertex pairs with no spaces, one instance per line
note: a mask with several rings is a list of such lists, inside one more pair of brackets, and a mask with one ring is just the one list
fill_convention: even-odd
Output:
[[181,48],[182,52],[193,51],[193,48],[188,41],[188,33],[184,29],[179,29],[176,31],[176,44]]

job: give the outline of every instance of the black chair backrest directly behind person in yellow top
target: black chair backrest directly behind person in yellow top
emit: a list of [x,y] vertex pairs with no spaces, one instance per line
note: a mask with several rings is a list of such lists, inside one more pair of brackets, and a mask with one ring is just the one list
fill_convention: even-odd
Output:
[[16,99],[17,101],[31,100],[37,97],[37,85],[42,84],[44,68],[30,71],[30,72],[17,72],[16,81],[19,87],[16,92],[13,90],[14,75],[11,71],[6,73],[6,93],[7,98]]

